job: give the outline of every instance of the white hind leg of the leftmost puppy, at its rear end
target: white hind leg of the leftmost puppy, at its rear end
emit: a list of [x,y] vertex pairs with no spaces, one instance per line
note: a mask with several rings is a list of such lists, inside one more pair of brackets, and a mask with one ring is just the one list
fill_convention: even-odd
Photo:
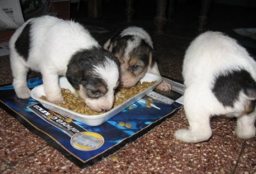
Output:
[[11,71],[13,73],[13,87],[18,98],[29,98],[30,90],[26,83],[26,76],[28,73],[28,67],[25,62],[11,61]]

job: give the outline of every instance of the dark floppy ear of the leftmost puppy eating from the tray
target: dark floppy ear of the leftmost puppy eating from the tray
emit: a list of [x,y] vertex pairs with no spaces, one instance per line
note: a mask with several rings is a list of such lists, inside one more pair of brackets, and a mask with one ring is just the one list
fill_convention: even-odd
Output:
[[76,67],[74,64],[69,64],[67,66],[67,73],[66,73],[67,80],[75,89],[79,89],[79,84],[81,83],[82,79],[82,72]]

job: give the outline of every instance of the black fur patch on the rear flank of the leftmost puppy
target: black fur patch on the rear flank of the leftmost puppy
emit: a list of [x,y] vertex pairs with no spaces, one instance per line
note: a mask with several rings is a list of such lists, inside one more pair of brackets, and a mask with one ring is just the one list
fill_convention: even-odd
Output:
[[20,56],[22,56],[25,61],[28,60],[29,48],[30,48],[30,30],[31,23],[26,24],[23,31],[20,33],[19,37],[15,42],[15,49]]

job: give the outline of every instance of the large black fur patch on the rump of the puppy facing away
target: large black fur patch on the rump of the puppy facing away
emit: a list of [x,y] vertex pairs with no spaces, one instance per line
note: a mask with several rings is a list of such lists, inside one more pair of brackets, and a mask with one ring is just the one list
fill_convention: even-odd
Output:
[[224,106],[234,107],[240,91],[248,97],[256,93],[256,82],[246,70],[231,71],[216,77],[212,91]]

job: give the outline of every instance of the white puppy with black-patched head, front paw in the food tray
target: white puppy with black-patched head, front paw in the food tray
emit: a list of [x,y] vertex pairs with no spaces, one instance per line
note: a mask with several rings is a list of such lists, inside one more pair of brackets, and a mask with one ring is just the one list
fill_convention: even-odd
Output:
[[64,103],[58,77],[66,76],[91,109],[112,108],[120,63],[79,23],[52,16],[29,19],[10,39],[10,61],[19,98],[29,97],[30,68],[42,74],[50,102]]

